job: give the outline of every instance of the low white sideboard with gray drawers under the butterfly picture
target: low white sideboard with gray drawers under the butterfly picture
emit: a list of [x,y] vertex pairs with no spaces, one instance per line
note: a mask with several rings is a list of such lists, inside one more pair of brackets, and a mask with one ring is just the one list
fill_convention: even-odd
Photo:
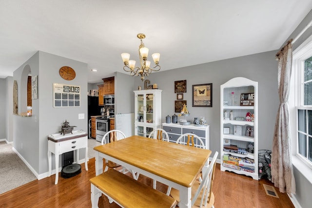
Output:
[[168,133],[169,142],[173,143],[176,143],[176,140],[184,133],[194,133],[203,140],[206,149],[209,150],[209,125],[163,123],[162,129]]

